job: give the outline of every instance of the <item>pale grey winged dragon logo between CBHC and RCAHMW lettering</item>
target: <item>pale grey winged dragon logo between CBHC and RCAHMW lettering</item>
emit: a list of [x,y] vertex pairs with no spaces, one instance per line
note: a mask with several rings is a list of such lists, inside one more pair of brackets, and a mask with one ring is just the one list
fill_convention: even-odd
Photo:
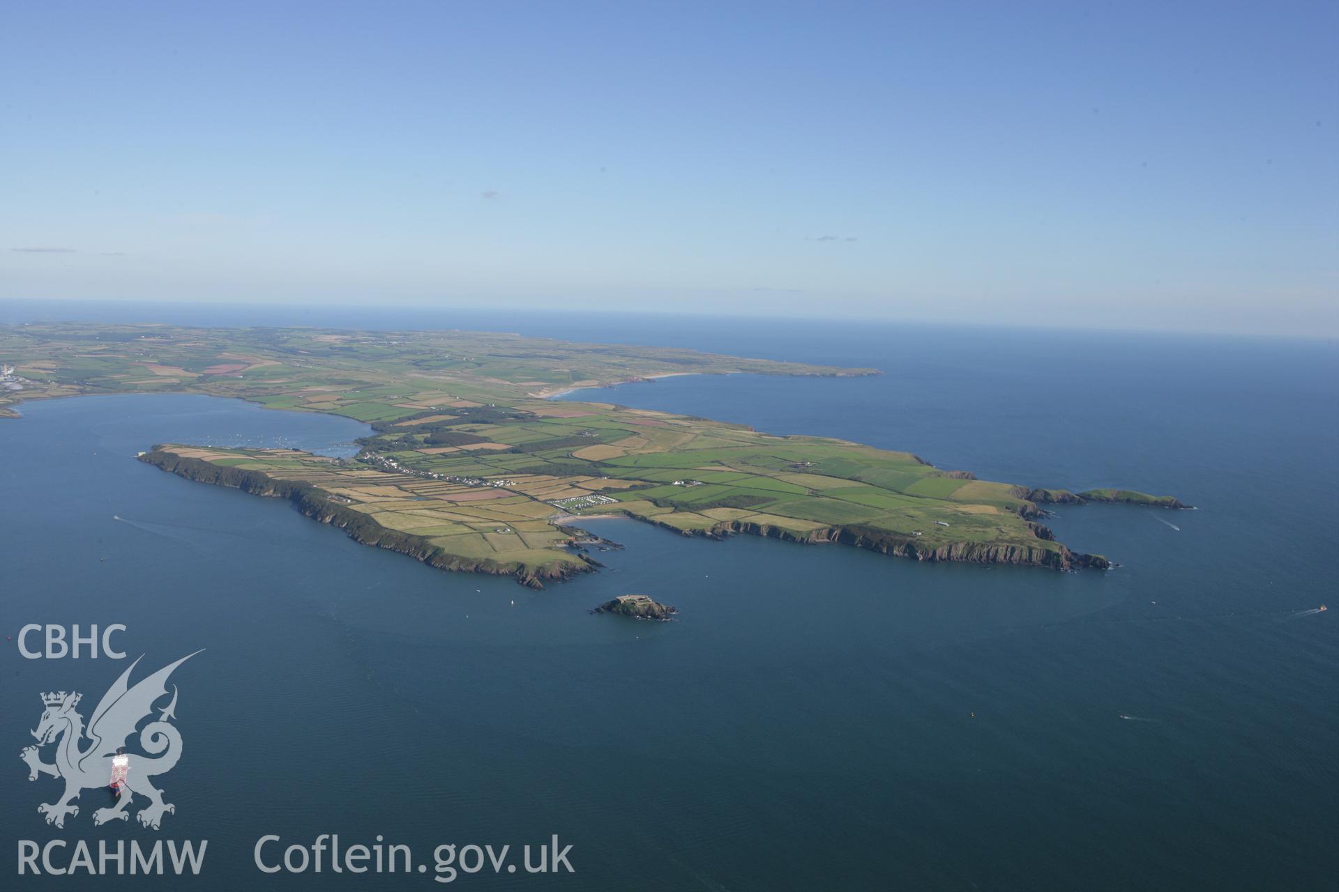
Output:
[[[195,654],[200,651],[197,650]],[[60,777],[66,781],[66,792],[55,802],[37,806],[37,812],[47,816],[47,824],[56,826],[66,825],[66,816],[78,816],[79,806],[71,802],[79,798],[79,793],[86,789],[108,786],[112,777],[112,758],[118,750],[123,752],[126,741],[135,733],[135,726],[151,715],[154,702],[167,695],[167,677],[183,662],[194,657],[187,654],[175,663],[159,669],[157,673],[129,686],[130,673],[139,665],[141,657],[121,674],[121,678],[107,690],[98,707],[92,710],[92,719],[84,729],[83,717],[75,711],[83,694],[59,691],[42,695],[46,711],[37,722],[37,730],[32,736],[37,738],[36,746],[25,746],[19,757],[28,764],[28,780],[37,780],[39,774]],[[145,826],[158,829],[162,824],[163,813],[175,813],[177,806],[163,802],[162,790],[153,785],[155,774],[166,774],[181,758],[181,733],[169,723],[177,718],[177,686],[173,685],[171,702],[166,709],[159,709],[159,718],[139,729],[139,746],[150,756],[135,756],[129,760],[129,770],[121,770],[118,777],[125,780],[119,785],[119,797],[115,806],[100,808],[92,813],[95,825],[112,820],[127,820],[130,816],[126,808],[134,794],[138,793],[149,800],[149,805],[139,809],[135,817]],[[87,736],[91,744],[80,749],[79,744]],[[56,745],[56,761],[47,764],[42,761],[40,748],[47,744]],[[166,750],[166,752],[165,752]],[[122,757],[122,765],[126,762]]]

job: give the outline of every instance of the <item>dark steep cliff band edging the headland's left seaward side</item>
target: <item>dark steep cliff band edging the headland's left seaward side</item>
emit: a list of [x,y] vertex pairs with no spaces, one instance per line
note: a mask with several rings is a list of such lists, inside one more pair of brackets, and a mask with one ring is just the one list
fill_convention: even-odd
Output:
[[376,523],[371,516],[332,501],[329,493],[319,487],[295,480],[279,480],[258,471],[244,471],[241,468],[217,465],[204,459],[179,456],[159,447],[145,452],[139,456],[139,460],[186,480],[230,487],[264,497],[288,499],[303,515],[343,530],[355,542],[408,555],[438,570],[516,576],[517,582],[528,588],[544,588],[545,582],[572,579],[577,574],[590,572],[599,566],[595,560],[581,554],[576,555],[581,563],[561,563],[544,567],[503,564],[487,558],[453,555],[434,546],[423,536],[415,536],[399,530],[388,530]]

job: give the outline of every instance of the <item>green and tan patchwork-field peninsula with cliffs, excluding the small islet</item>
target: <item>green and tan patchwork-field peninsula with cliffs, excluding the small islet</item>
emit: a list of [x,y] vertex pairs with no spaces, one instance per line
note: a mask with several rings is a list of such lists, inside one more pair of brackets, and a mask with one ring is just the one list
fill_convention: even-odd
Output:
[[526,586],[597,568],[572,524],[624,516],[684,535],[845,543],[925,562],[1109,567],[1042,504],[1185,508],[1129,489],[1030,489],[908,452],[608,403],[574,388],[670,374],[878,374],[684,349],[470,332],[0,325],[0,412],[83,393],[193,392],[368,423],[351,459],[158,444],[178,476],[288,499],[353,539]]

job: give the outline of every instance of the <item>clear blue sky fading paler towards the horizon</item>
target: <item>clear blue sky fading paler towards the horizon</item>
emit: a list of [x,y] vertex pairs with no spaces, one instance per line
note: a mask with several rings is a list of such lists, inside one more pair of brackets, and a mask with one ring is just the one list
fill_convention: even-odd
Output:
[[0,297],[1334,336],[1336,159],[1334,0],[0,8]]

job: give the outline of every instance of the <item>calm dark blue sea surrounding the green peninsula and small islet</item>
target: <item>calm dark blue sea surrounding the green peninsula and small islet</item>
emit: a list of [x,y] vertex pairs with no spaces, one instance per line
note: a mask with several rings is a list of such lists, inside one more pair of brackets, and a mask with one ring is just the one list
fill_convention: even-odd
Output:
[[[182,666],[158,833],[64,830],[13,756],[15,841],[209,840],[171,877],[15,888],[412,889],[265,876],[252,847],[573,844],[570,876],[466,888],[1334,889],[1339,876],[1339,349],[1192,338],[639,316],[0,302],[0,321],[486,328],[838,365],[872,378],[679,377],[566,399],[909,449],[1032,485],[1127,485],[1194,512],[1065,508],[1110,572],[924,566],[837,546],[627,546],[541,592],[355,544],[288,504],[134,461],[163,440],[339,452],[356,423],[201,396],[83,397],[0,421],[0,615],[129,626]],[[121,518],[116,520],[115,518]],[[1173,528],[1174,524],[1178,528]],[[627,591],[648,626],[586,610]],[[514,603],[513,603],[514,602]],[[39,693],[123,663],[0,650],[4,740]],[[975,714],[975,715],[973,715]],[[86,710],[87,715],[87,710]],[[274,851],[274,849],[270,849]],[[454,885],[454,884],[453,884]]]

